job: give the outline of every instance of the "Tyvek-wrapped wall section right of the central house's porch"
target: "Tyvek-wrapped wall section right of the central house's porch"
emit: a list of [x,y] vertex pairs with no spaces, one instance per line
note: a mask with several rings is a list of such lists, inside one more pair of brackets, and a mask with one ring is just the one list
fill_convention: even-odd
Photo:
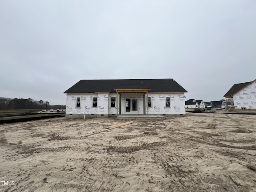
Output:
[[[152,107],[148,108],[148,114],[186,114],[184,93],[148,93],[148,96],[152,97]],[[170,107],[165,105],[166,96],[170,97]]]

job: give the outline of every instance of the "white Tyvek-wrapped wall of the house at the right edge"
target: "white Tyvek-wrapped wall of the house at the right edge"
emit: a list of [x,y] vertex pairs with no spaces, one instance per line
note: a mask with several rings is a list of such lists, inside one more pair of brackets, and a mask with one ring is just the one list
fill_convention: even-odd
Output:
[[246,109],[256,109],[256,81],[249,84],[233,96],[236,109],[246,107]]

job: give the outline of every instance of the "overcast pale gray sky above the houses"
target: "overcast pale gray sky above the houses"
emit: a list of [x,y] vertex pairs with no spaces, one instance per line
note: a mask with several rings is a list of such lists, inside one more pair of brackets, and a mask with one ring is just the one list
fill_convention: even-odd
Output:
[[81,79],[173,78],[186,100],[256,79],[256,0],[0,0],[0,97],[66,104]]

